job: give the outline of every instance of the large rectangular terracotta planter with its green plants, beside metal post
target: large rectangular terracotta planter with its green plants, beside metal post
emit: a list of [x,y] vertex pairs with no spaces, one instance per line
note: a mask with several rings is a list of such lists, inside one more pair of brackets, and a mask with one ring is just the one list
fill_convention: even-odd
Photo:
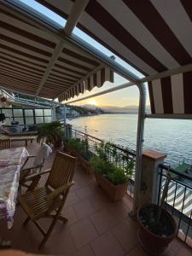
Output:
[[91,159],[91,165],[96,177],[96,183],[108,194],[112,201],[118,201],[125,196],[134,163],[130,160],[124,168],[115,166],[108,160],[108,144],[101,143],[96,147],[96,153]]

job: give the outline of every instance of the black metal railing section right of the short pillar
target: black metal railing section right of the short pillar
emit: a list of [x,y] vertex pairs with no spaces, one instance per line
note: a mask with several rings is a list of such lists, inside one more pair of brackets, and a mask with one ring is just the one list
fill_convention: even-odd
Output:
[[[167,166],[160,165],[159,202],[166,183],[167,170]],[[170,174],[172,180],[169,184],[165,208],[172,213],[177,221],[177,236],[192,247],[192,175],[190,177],[176,172],[172,168]]]

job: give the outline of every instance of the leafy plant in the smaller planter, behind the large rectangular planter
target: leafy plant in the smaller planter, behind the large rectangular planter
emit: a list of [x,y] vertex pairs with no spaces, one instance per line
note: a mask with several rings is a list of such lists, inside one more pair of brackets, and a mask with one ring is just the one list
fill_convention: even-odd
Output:
[[90,165],[90,158],[93,155],[90,150],[88,150],[88,145],[86,140],[80,140],[79,138],[70,138],[66,139],[66,150],[73,154],[74,156],[78,157],[80,164],[84,167],[84,171],[87,174],[92,172],[92,168]]

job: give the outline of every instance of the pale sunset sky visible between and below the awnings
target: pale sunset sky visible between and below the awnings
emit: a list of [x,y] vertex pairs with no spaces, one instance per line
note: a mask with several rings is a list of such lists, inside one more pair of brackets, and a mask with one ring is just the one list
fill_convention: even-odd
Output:
[[[61,16],[56,15],[54,12],[50,11],[49,9],[45,8],[41,4],[35,2],[34,0],[20,0],[22,3],[26,3],[27,5],[30,5],[34,9],[38,9],[38,11],[46,16],[48,16],[50,19],[55,20],[58,24],[61,26],[65,26],[66,20],[61,18]],[[96,47],[96,49],[99,49],[104,53],[105,55],[111,56],[114,55],[113,52],[106,49],[102,46],[102,44],[97,43],[93,38],[90,38],[88,35],[86,35],[84,32],[80,31],[79,28],[75,27],[73,30],[73,33],[79,38],[84,39],[87,43],[91,44],[92,46]],[[135,73],[139,78],[143,77],[143,74],[137,72],[137,70],[133,67],[131,67],[129,64],[127,64],[125,61],[122,61],[118,56],[115,55],[115,61],[121,64],[122,66],[129,69],[132,73]],[[113,86],[117,86],[119,84],[124,84],[125,82],[128,82],[126,79],[120,77],[117,73],[114,74],[114,83],[106,82],[102,88],[94,88],[91,90],[91,92],[87,91],[84,93],[84,95],[80,96],[74,96],[73,99],[70,99],[70,101],[75,99],[80,99],[84,96],[89,96],[91,94],[94,94],[98,91],[107,90],[109,88],[112,88]],[[69,102],[70,102],[69,101]],[[124,90],[118,90],[111,93],[108,93],[103,96],[97,96],[88,100],[79,101],[75,103],[78,106],[84,105],[84,104],[93,104],[96,106],[118,106],[118,107],[125,107],[129,105],[138,105],[139,101],[139,93],[137,86],[131,86],[130,88],[124,89]],[[149,105],[149,100],[147,97],[147,104]]]

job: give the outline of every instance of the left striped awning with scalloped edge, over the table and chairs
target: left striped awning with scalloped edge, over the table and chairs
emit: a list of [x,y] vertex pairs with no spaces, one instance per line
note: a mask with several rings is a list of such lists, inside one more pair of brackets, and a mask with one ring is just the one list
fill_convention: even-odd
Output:
[[0,86],[62,100],[106,80],[113,71],[95,56],[0,3]]

